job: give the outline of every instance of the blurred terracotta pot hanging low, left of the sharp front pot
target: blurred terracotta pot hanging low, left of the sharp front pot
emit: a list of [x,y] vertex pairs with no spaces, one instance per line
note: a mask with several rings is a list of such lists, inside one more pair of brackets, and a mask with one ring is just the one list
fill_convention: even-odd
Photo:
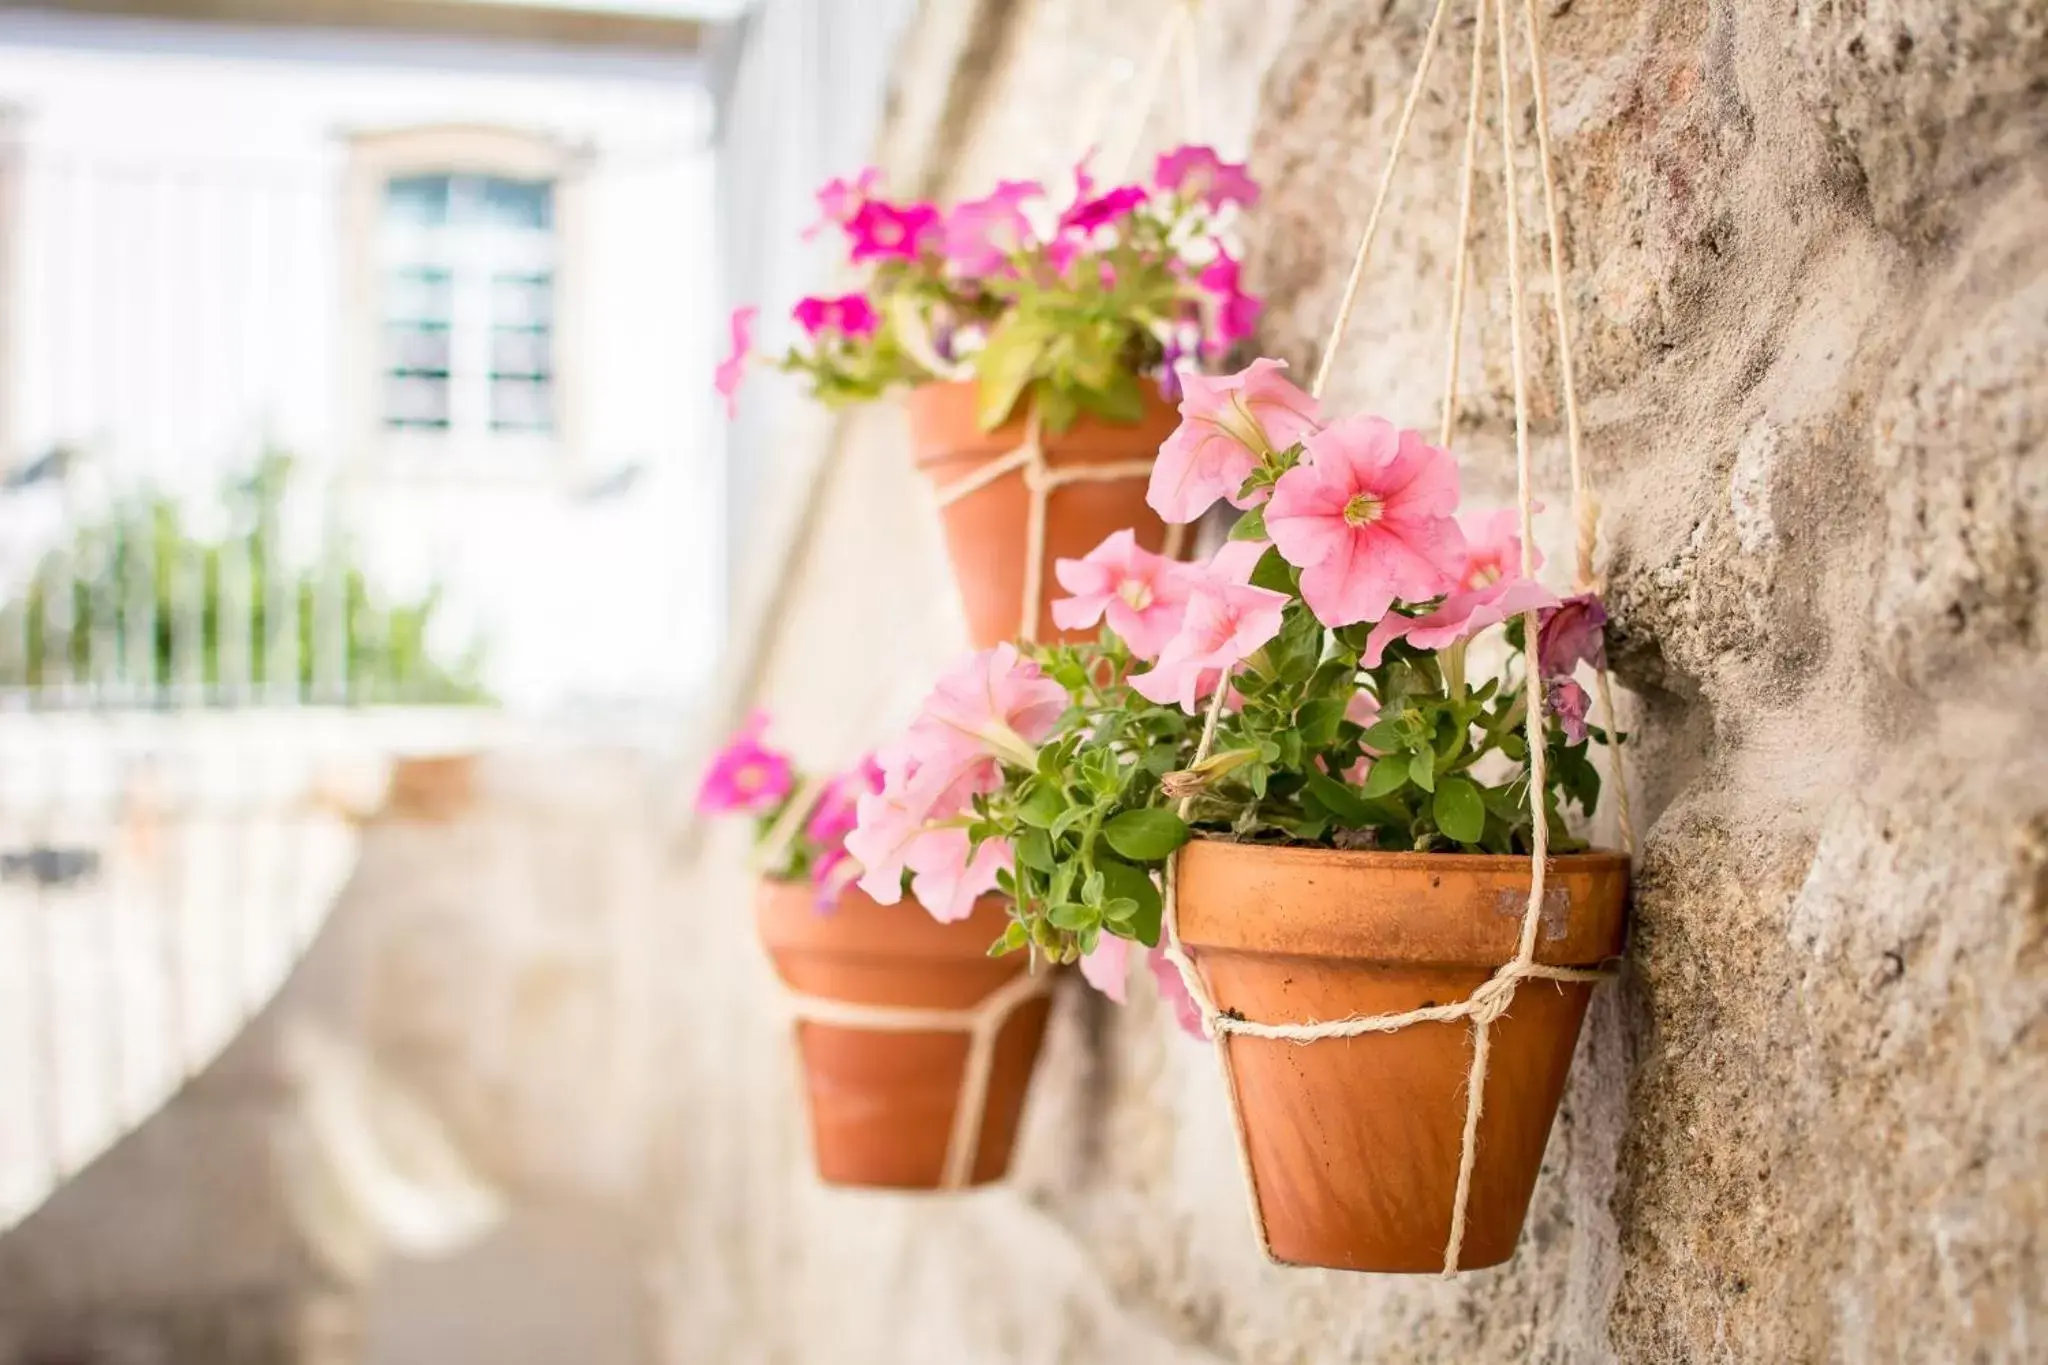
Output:
[[[819,915],[811,886],[770,880],[762,882],[758,917],[774,970],[793,990],[858,1005],[963,1009],[1028,966],[1024,954],[987,956],[1008,925],[1008,905],[983,896],[969,919],[942,925],[911,900],[877,905],[848,886],[838,909]],[[1049,997],[1028,999],[995,1036],[971,1185],[1010,1171],[1049,1009]],[[817,1175],[827,1185],[938,1189],[967,1078],[967,1033],[817,1021],[795,1029]]]

